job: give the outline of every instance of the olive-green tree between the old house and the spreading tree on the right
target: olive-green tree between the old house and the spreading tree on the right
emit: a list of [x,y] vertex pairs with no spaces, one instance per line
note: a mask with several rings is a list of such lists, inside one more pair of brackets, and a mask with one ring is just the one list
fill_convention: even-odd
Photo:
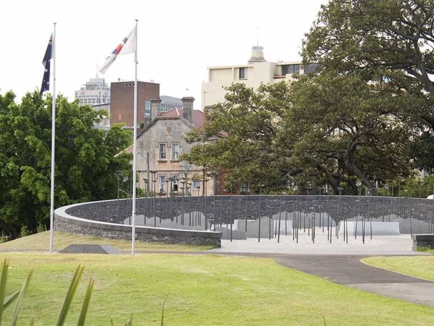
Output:
[[225,174],[233,189],[281,187],[292,169],[275,155],[279,121],[289,105],[286,84],[262,85],[257,92],[233,84],[226,90],[226,101],[205,112],[203,129],[186,136],[196,144],[181,158],[213,174]]

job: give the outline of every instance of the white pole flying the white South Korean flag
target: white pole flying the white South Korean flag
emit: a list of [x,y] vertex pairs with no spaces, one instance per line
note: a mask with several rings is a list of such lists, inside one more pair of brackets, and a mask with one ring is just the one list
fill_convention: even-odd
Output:
[[136,39],[134,53],[134,139],[133,139],[133,211],[132,211],[132,232],[131,232],[131,255],[136,249],[136,155],[137,155],[137,21],[136,19]]

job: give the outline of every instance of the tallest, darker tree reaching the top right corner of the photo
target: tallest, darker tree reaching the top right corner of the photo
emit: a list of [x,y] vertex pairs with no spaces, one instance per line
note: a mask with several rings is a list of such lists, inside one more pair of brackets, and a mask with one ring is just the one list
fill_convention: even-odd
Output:
[[401,107],[416,166],[434,171],[434,1],[331,0],[303,41],[304,63],[382,76],[413,99]]

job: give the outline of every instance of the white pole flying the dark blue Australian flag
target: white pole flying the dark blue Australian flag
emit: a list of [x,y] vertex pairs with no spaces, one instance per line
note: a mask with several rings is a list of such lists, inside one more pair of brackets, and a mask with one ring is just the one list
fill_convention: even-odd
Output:
[[54,142],[56,139],[56,23],[53,23],[53,96],[51,104],[51,191],[50,191],[50,253],[53,252],[54,227]]

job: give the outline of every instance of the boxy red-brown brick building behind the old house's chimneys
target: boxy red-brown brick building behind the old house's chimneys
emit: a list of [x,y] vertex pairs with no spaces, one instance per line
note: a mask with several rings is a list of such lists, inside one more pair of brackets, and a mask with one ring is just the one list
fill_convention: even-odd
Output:
[[[150,120],[151,99],[160,97],[160,84],[137,82],[137,124]],[[110,88],[110,123],[124,122],[127,127],[134,124],[134,81],[114,82]]]

